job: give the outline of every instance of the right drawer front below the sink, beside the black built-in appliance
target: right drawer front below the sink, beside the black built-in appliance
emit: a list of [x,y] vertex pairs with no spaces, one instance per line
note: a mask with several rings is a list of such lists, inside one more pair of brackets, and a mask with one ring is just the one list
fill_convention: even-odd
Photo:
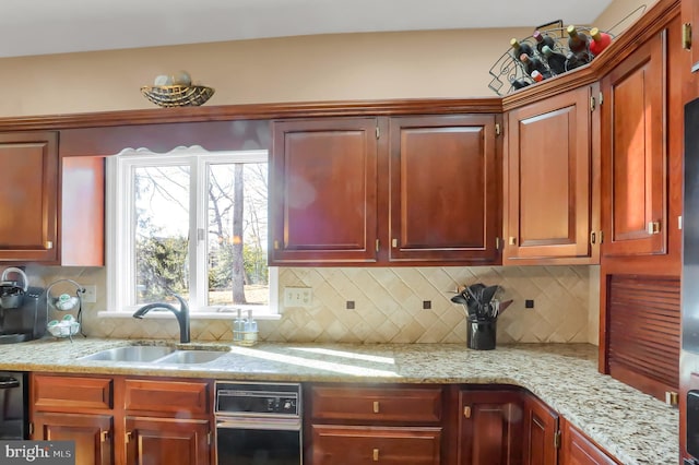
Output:
[[209,383],[126,380],[123,408],[168,414],[209,414]]

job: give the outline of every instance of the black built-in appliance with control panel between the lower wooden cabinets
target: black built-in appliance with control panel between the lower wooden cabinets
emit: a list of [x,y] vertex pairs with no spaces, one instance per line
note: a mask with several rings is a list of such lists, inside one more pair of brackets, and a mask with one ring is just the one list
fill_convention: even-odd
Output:
[[299,465],[301,388],[297,383],[218,381],[218,465]]

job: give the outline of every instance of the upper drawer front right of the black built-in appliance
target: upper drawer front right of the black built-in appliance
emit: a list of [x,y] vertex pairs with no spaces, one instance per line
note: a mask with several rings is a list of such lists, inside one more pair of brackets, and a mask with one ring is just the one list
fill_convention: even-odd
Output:
[[439,421],[441,389],[313,386],[315,419]]

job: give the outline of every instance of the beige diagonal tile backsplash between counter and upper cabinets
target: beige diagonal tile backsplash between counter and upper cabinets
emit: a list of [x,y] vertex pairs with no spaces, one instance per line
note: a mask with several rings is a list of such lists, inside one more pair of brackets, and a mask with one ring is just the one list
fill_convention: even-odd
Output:
[[[85,333],[97,337],[177,338],[175,319],[99,318],[105,309],[106,271],[92,267],[27,267],[33,285],[59,277],[96,284],[98,301],[85,305]],[[282,308],[280,320],[259,322],[270,342],[465,343],[462,306],[450,301],[458,284],[502,287],[513,299],[497,323],[498,343],[596,344],[599,279],[596,266],[477,267],[284,267],[284,287],[310,287],[307,308]],[[533,300],[534,308],[524,301]],[[354,309],[347,309],[354,302]],[[428,303],[427,303],[428,302]],[[424,309],[429,306],[429,309]],[[194,319],[199,341],[232,341],[229,320]]]

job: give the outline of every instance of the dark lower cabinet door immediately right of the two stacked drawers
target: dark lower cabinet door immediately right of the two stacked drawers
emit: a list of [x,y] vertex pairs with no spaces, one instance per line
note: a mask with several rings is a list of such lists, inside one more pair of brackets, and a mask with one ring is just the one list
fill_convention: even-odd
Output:
[[519,391],[461,391],[459,465],[522,463]]

